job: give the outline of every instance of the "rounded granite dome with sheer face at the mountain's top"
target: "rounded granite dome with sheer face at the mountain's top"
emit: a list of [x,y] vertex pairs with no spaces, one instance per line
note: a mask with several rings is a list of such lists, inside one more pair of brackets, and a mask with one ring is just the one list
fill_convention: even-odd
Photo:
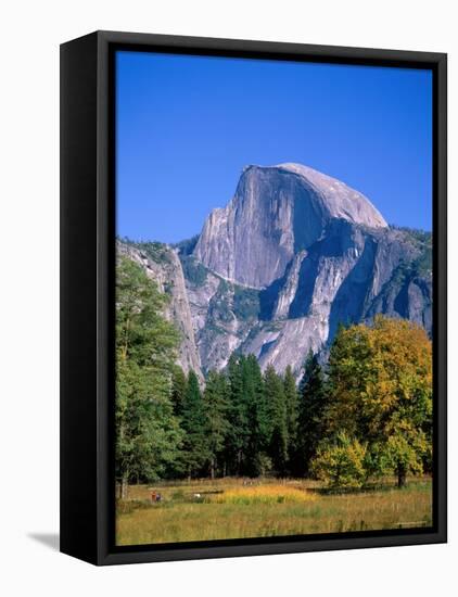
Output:
[[339,180],[297,164],[250,166],[227,207],[208,216],[193,254],[232,282],[266,288],[336,219],[386,227],[364,195]]

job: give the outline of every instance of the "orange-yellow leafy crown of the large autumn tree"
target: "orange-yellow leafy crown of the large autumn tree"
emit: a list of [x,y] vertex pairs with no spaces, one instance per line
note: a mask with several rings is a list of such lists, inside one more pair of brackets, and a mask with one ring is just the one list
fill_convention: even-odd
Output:
[[[331,428],[358,435],[390,433],[393,414],[410,419],[432,410],[432,346],[425,331],[404,319],[377,316],[372,327],[344,329],[331,351]],[[414,412],[410,412],[414,411]],[[397,417],[396,417],[397,418]]]

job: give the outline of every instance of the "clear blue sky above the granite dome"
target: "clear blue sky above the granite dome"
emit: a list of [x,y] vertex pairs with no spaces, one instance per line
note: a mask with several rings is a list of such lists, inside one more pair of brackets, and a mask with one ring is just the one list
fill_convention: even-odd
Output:
[[431,229],[431,72],[127,51],[116,68],[119,236],[190,238],[243,166],[282,162]]

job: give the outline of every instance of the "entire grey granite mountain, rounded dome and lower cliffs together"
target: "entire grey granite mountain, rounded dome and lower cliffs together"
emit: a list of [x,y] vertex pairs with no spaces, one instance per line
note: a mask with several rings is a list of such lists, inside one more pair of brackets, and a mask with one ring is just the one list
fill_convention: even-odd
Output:
[[379,313],[431,333],[431,234],[389,227],[364,195],[305,166],[245,168],[195,246],[162,247],[160,265],[131,255],[174,281],[186,369],[221,369],[239,350],[298,376],[309,348],[327,353],[340,322]]

